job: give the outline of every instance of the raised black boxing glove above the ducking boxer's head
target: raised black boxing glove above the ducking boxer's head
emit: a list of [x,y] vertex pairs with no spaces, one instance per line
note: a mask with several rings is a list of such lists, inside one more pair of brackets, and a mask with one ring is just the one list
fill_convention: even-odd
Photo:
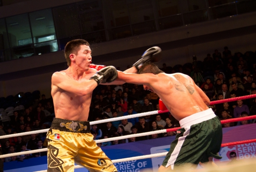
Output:
[[152,48],[146,50],[142,55],[142,58],[133,64],[139,71],[143,63],[146,62],[158,62],[162,58],[162,50],[158,46],[153,46]]

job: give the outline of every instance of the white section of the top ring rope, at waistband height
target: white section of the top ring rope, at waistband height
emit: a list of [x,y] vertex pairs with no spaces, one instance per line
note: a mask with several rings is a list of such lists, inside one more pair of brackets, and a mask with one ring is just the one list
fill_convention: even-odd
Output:
[[[141,116],[148,116],[148,115],[154,115],[154,114],[158,114],[158,111],[143,112],[143,113],[137,113],[137,114],[133,114],[133,115],[121,116],[121,117],[116,117],[116,118],[109,118],[109,119],[105,119],[105,120],[92,121],[92,122],[90,122],[90,125],[100,124],[100,123],[105,123],[105,122],[118,121],[118,120],[125,120],[125,119],[136,118],[136,117],[141,117]],[[18,137],[18,136],[29,135],[29,134],[47,133],[48,130],[49,129],[47,128],[47,129],[24,132],[24,133],[2,135],[2,136],[0,136],[0,139],[10,138],[10,137]]]

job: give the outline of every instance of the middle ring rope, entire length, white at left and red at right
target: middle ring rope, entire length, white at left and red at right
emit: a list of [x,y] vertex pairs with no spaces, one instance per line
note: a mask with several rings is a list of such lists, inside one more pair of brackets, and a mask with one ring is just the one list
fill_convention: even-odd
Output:
[[[253,116],[247,116],[247,117],[240,117],[240,118],[235,118],[235,119],[223,120],[223,121],[220,121],[220,122],[222,124],[224,124],[224,123],[228,123],[228,122],[251,120],[251,119],[255,119],[255,118],[256,118],[256,115],[253,115]],[[110,142],[110,141],[113,141],[113,140],[128,139],[128,138],[132,138],[132,137],[141,137],[141,136],[151,135],[151,134],[174,132],[174,131],[177,131],[180,128],[181,127],[176,127],[176,128],[161,129],[161,130],[145,132],[145,133],[129,134],[129,135],[123,135],[123,136],[119,136],[119,137],[112,137],[112,138],[107,138],[107,139],[95,140],[95,142],[96,143]],[[234,143],[236,143],[236,142],[234,142]],[[43,151],[47,151],[47,148],[26,151],[26,154],[33,154],[33,153],[43,152]],[[24,155],[24,153],[23,152],[16,152],[16,153],[12,153],[12,154],[0,155],[0,158],[10,157],[10,156],[17,156],[17,155]]]

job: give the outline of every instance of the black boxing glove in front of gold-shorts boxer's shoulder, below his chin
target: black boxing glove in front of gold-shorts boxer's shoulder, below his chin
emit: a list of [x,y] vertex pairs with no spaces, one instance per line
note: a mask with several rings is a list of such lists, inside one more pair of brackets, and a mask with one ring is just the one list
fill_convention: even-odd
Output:
[[117,70],[114,66],[107,66],[99,70],[90,78],[94,79],[98,84],[109,83],[117,78]]

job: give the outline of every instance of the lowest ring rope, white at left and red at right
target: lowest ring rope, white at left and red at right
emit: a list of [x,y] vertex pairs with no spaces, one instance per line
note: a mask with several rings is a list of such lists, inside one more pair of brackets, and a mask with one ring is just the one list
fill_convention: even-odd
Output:
[[[238,145],[238,144],[246,144],[246,143],[253,143],[256,142],[256,139],[252,140],[245,140],[245,141],[240,141],[240,142],[231,142],[231,143],[225,143],[221,144],[221,147],[225,146],[231,146],[231,145]],[[150,154],[150,155],[143,155],[143,156],[134,156],[134,157],[129,157],[129,158],[123,158],[123,159],[117,159],[117,160],[112,160],[113,163],[117,162],[126,162],[126,161],[134,161],[134,160],[141,160],[141,159],[147,159],[147,158],[154,158],[154,157],[161,157],[161,156],[166,156],[168,152],[162,152],[158,154]],[[80,165],[75,165],[74,169],[77,168],[84,168],[83,166]],[[47,170],[42,170],[42,171],[37,171],[37,172],[47,172]]]

